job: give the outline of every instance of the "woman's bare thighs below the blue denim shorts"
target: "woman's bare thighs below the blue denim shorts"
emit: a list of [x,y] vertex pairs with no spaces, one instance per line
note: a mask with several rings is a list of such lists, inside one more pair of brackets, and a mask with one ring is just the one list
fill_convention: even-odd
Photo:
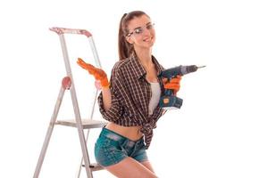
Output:
[[133,158],[124,158],[121,162],[106,166],[105,169],[120,178],[155,178],[154,172],[147,168],[148,161],[145,165],[139,163]]

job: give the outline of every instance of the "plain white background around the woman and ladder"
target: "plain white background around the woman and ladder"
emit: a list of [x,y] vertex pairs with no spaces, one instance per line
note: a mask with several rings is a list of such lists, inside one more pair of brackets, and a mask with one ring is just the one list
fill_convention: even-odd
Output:
[[[206,65],[183,77],[184,100],[158,122],[148,156],[159,177],[268,177],[268,5],[265,1],[1,1],[0,177],[32,177],[65,75],[58,36],[48,28],[85,28],[110,76],[119,20],[143,10],[155,21],[153,53],[165,68]],[[75,65],[93,62],[88,41],[68,36],[83,117],[93,77]],[[81,103],[86,103],[83,105]],[[96,108],[97,110],[97,108]],[[59,117],[73,117],[69,92]],[[97,113],[96,113],[97,115]],[[91,159],[99,130],[88,142]],[[40,177],[75,177],[77,130],[55,126]],[[105,171],[96,177],[113,177]],[[81,177],[85,177],[85,171]]]

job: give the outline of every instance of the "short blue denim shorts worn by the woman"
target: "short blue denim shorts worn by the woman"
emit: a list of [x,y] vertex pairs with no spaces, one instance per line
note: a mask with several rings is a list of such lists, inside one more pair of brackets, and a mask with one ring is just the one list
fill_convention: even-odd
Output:
[[138,162],[148,160],[144,138],[134,142],[104,127],[95,144],[96,162],[101,166],[112,166],[127,157]]

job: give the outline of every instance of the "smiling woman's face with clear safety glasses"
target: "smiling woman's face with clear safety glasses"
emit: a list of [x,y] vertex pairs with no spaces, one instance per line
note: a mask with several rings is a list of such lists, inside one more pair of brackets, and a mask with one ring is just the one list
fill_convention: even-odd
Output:
[[128,28],[130,33],[126,39],[134,47],[151,48],[155,44],[154,24],[147,15],[130,20]]

